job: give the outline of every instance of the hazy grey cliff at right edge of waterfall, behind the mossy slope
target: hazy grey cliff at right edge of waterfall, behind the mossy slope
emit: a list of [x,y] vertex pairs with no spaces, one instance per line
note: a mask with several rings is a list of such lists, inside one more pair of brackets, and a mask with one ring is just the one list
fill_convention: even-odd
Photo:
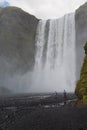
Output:
[[76,75],[80,76],[80,69],[84,58],[84,43],[87,41],[87,3],[76,10]]

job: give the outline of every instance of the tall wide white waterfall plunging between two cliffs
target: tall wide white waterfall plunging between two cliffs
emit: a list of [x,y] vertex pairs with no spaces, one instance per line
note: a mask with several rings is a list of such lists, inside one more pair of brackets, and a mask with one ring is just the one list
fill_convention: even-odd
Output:
[[75,64],[75,14],[40,20],[32,91],[74,91]]

